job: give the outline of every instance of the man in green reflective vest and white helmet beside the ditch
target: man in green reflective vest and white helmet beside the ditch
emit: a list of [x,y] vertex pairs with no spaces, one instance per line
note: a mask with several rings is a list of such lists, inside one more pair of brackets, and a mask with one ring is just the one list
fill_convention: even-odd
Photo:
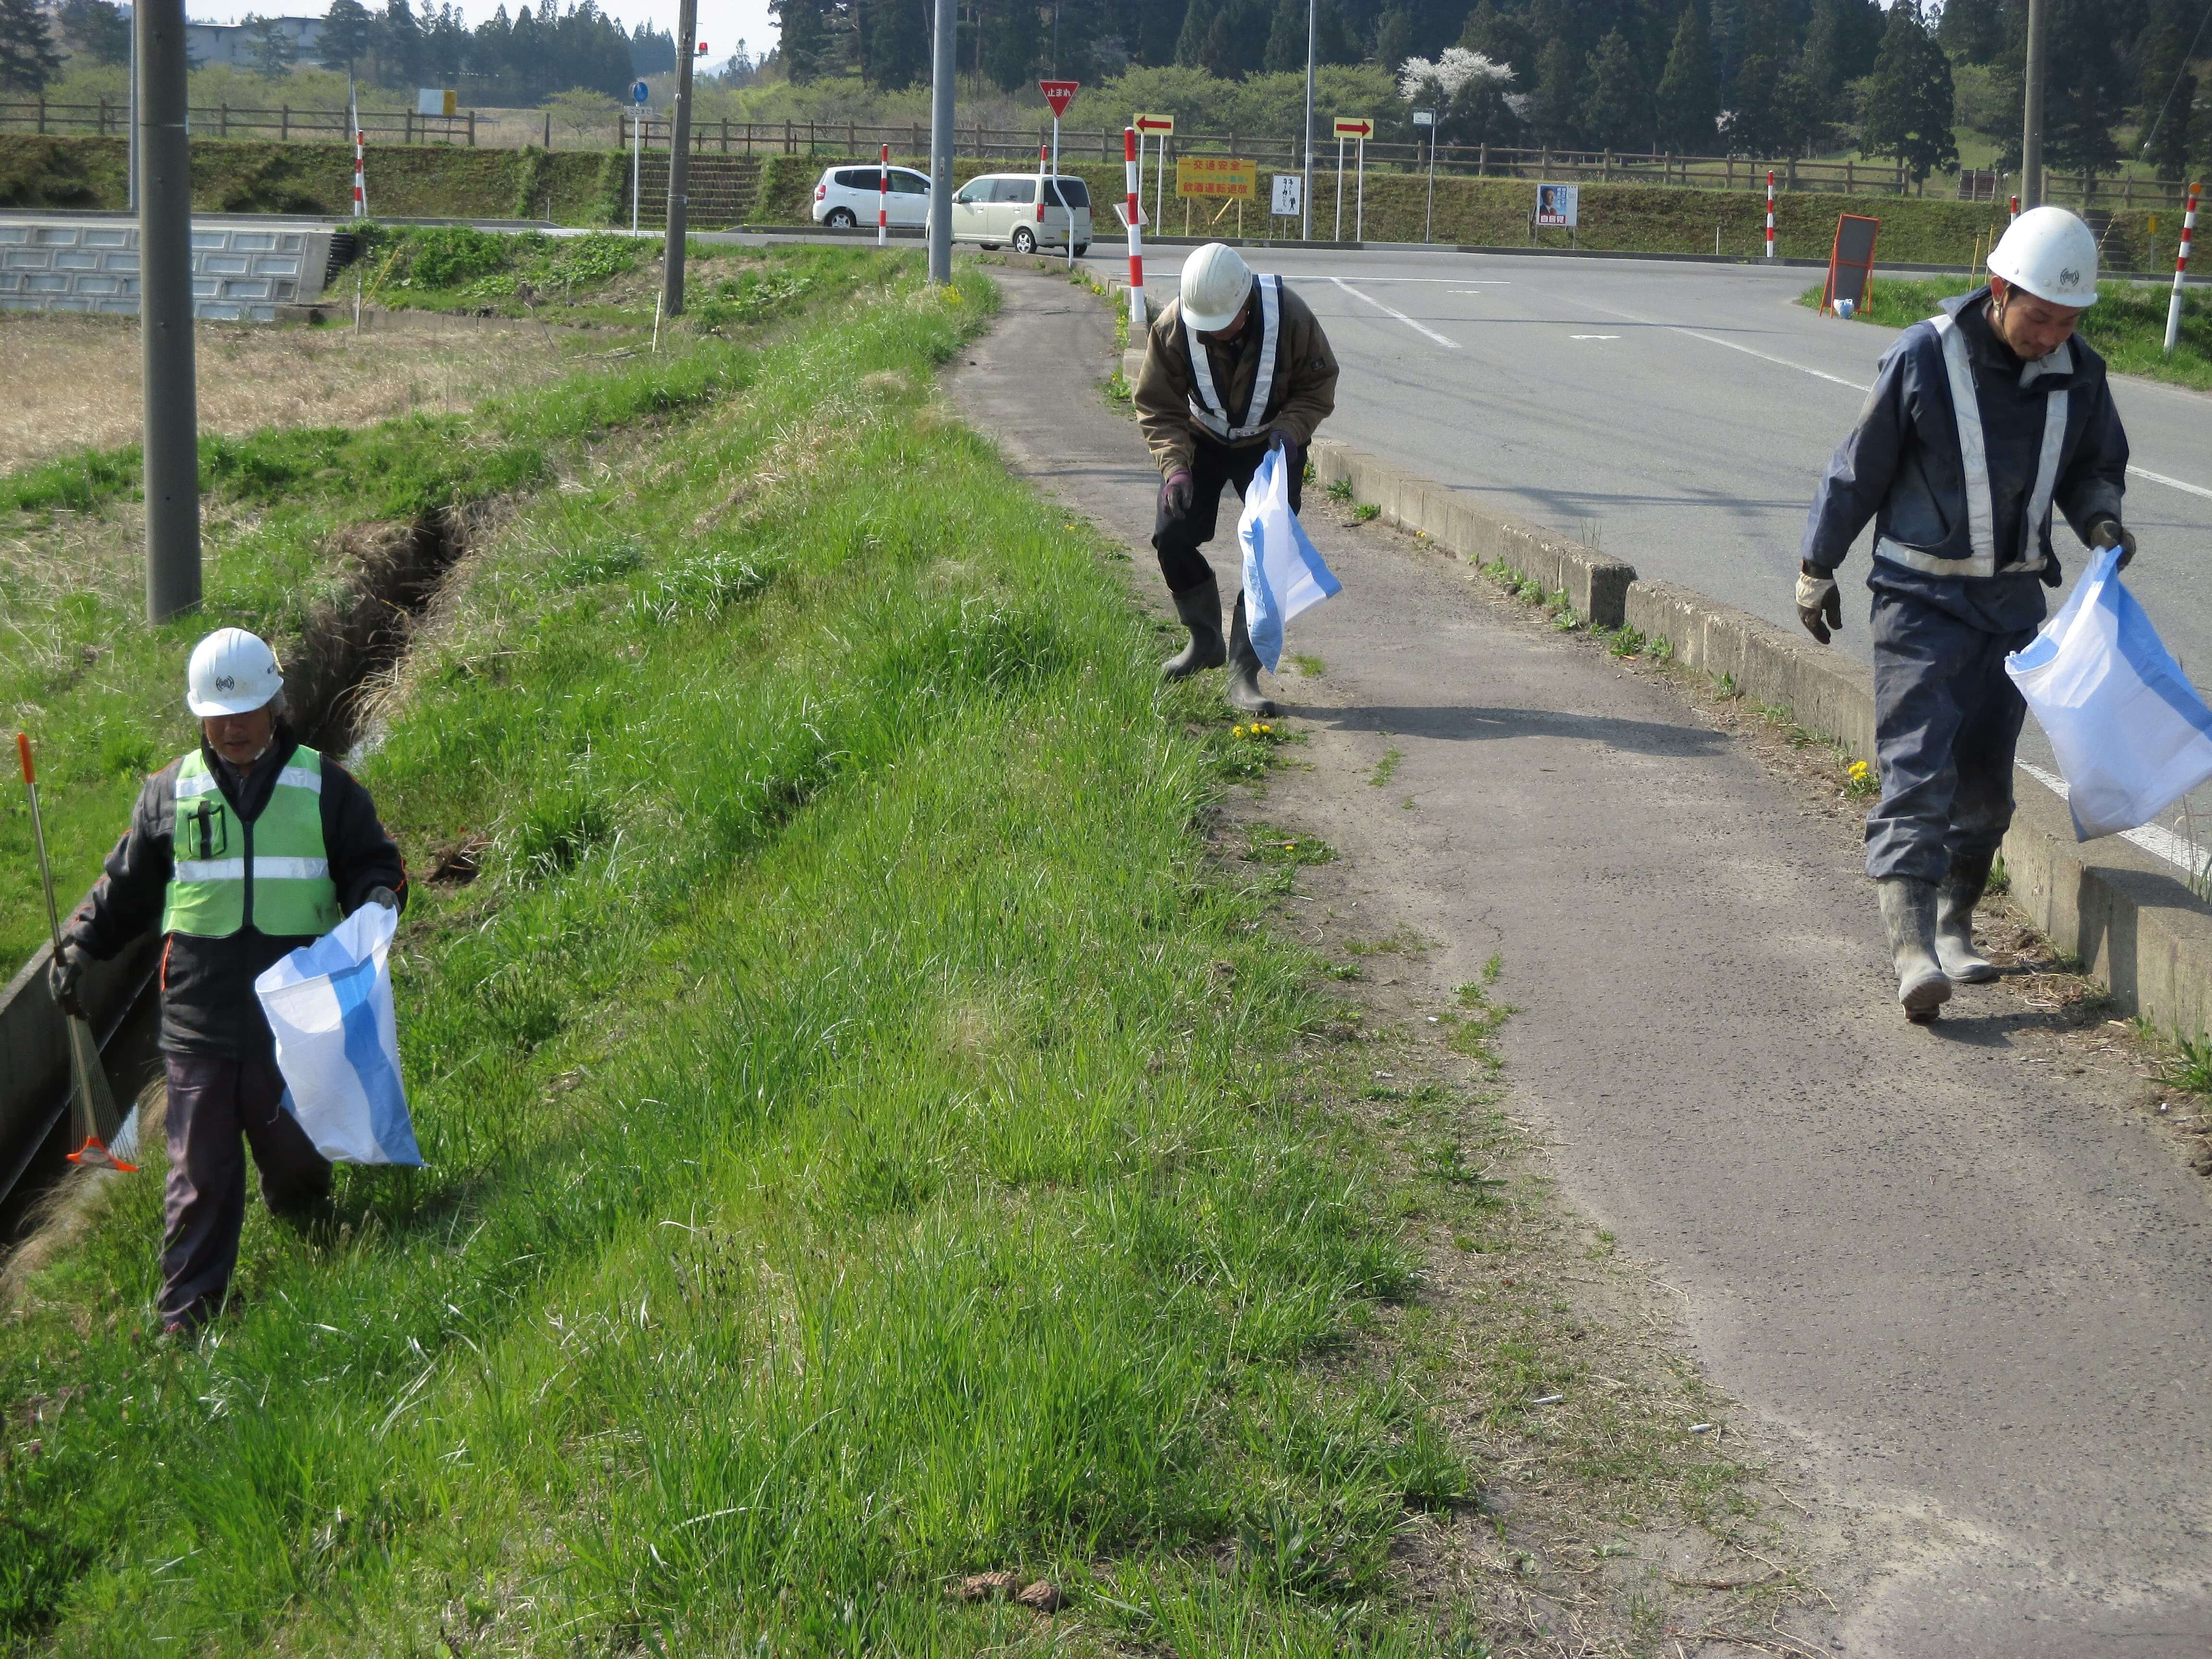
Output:
[[330,1164],[283,1108],[254,978],[361,905],[400,909],[407,869],[352,774],[283,719],[276,655],[243,628],[192,650],[186,706],[201,743],[139,790],[91,898],[53,958],[53,998],[84,1013],[86,958],[153,927],[161,945],[168,1192],[157,1312],[188,1336],[221,1312],[246,1225],[246,1148],[261,1197],[312,1217]]

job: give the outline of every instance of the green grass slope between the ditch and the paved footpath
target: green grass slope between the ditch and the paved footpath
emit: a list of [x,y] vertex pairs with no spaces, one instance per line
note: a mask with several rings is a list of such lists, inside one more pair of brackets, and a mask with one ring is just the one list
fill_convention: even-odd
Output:
[[1413,1263],[1314,964],[1208,874],[1203,697],[933,400],[989,290],[891,263],[639,367],[679,440],[546,451],[458,571],[363,770],[489,836],[398,951],[429,1168],[257,1210],[184,1349],[108,1188],[0,1327],[0,1648],[984,1652],[1004,1566],[1115,1648],[1427,1650],[1389,1548],[1467,1471],[1347,1363]]

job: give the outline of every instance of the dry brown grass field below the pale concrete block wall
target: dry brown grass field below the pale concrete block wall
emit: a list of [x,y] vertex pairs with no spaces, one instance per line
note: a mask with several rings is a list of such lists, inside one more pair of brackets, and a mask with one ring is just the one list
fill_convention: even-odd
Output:
[[[199,323],[199,425],[354,427],[453,411],[571,367],[575,345],[522,332],[416,332]],[[139,330],[133,316],[0,312],[0,471],[139,436]]]

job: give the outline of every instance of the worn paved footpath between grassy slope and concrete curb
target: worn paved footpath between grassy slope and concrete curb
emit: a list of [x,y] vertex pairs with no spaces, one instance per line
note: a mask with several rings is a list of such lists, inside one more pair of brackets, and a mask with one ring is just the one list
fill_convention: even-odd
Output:
[[[998,274],[953,396],[1161,602],[1157,473],[1084,385],[1106,307]],[[2205,1181],[2110,1073],[2024,1064],[2051,1051],[2011,989],[1907,1026],[1849,836],[1666,684],[1312,518],[1345,593],[1292,624],[1325,675],[1274,688],[1316,770],[1270,810],[1440,942],[1438,987],[1504,956],[1515,1110],[1814,1515],[1838,1615],[1792,1628],[1869,1659],[2212,1652]]]

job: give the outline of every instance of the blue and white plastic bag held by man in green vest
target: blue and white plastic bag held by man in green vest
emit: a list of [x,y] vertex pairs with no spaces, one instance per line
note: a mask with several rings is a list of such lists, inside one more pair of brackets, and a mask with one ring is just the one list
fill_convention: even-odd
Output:
[[283,1104],[334,1164],[420,1164],[392,1013],[398,911],[363,905],[254,980]]

